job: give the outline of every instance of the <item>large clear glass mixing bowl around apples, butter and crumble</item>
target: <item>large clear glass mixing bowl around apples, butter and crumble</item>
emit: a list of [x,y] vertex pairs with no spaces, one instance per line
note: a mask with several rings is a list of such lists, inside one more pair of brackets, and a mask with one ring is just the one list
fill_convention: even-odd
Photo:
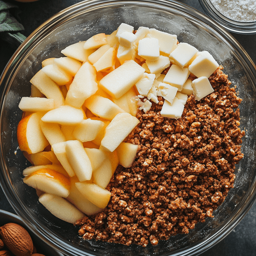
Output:
[[[110,34],[121,22],[137,29],[156,28],[177,34],[180,42],[212,53],[223,65],[243,99],[241,127],[246,130],[244,159],[236,168],[234,189],[214,212],[214,218],[198,223],[187,235],[177,235],[157,246],[84,241],[78,229],[50,214],[33,188],[22,181],[28,166],[18,148],[16,128],[22,112],[22,96],[29,96],[29,80],[41,68],[42,60],[61,57],[61,49],[94,34]],[[17,214],[49,245],[66,255],[196,255],[219,242],[238,224],[255,200],[255,65],[234,38],[213,20],[175,1],[83,1],[56,14],[34,31],[11,58],[1,78],[1,186]]]

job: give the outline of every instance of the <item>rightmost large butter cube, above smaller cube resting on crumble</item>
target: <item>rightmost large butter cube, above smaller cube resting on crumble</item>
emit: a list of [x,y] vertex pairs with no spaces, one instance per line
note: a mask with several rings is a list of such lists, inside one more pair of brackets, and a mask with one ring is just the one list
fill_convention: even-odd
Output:
[[189,71],[197,77],[207,78],[219,67],[213,56],[207,52],[200,52],[199,56],[189,65]]

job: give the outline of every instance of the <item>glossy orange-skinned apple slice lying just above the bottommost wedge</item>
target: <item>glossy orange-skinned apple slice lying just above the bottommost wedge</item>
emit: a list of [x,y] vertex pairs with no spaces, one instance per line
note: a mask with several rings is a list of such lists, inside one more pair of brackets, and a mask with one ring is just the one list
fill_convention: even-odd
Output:
[[51,169],[40,169],[23,178],[24,183],[43,192],[67,197],[70,192],[70,179]]

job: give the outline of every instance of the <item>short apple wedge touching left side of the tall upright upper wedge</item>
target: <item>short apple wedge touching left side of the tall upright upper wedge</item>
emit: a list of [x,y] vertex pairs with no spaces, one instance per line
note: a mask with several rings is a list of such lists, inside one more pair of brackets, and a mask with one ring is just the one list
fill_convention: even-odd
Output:
[[49,64],[41,69],[50,79],[52,79],[57,85],[65,85],[71,81],[72,76],[67,73],[58,65]]

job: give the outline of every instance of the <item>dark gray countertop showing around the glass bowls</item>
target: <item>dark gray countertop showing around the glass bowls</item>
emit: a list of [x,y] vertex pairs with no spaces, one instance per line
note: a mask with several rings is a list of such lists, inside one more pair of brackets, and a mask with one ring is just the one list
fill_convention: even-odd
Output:
[[[7,1],[7,0],[5,0]],[[72,4],[80,2],[79,0],[40,0],[31,3],[20,3],[9,0],[19,6],[22,25],[25,31],[23,34],[28,36],[33,32],[41,23],[46,21],[55,13],[69,7]],[[195,9],[204,13],[198,0],[180,0],[184,4],[188,4]],[[249,56],[256,63],[256,35],[240,35],[232,34],[237,41],[247,51]],[[15,52],[13,46],[0,40],[0,73],[4,70],[10,57]],[[0,189],[0,209],[15,213],[10,206],[7,198],[2,189]],[[213,246],[207,252],[201,254],[202,256],[255,256],[256,255],[256,203],[253,204],[247,215],[231,231],[231,233],[220,241],[217,245]]]

